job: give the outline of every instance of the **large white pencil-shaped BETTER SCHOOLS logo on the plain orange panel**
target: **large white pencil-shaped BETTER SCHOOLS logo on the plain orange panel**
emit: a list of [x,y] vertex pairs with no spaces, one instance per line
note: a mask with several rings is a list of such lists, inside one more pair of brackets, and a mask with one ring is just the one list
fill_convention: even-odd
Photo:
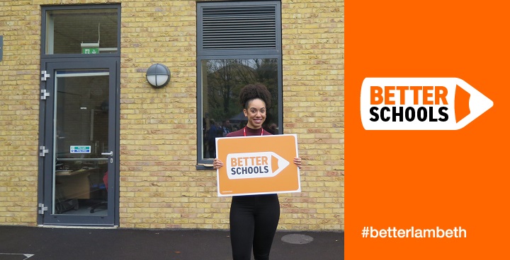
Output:
[[460,78],[365,78],[366,130],[458,130],[494,103]]

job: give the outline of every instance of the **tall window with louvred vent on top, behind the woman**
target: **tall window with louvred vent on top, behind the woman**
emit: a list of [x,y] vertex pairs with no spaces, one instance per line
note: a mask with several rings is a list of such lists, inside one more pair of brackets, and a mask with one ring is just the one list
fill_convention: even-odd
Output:
[[[215,158],[215,138],[246,125],[239,91],[262,83],[271,92],[263,128],[281,134],[280,1],[198,3],[198,165]],[[200,120],[201,119],[201,120]],[[198,168],[203,168],[198,166]]]

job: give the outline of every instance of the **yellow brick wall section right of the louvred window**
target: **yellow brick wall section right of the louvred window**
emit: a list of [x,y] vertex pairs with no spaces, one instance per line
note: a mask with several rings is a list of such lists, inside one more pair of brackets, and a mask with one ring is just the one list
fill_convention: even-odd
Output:
[[344,1],[282,1],[283,122],[297,134],[302,192],[279,228],[344,230]]

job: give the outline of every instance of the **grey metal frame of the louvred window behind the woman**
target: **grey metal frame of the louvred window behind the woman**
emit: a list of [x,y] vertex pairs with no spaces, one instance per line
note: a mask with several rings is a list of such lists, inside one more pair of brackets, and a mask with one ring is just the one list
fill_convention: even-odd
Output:
[[[275,49],[203,49],[203,7],[274,5],[276,8],[276,48]],[[197,3],[197,170],[212,170],[213,158],[203,156],[203,71],[202,61],[210,59],[276,59],[278,74],[278,134],[283,134],[283,58],[281,47],[281,3],[280,1],[236,1]]]

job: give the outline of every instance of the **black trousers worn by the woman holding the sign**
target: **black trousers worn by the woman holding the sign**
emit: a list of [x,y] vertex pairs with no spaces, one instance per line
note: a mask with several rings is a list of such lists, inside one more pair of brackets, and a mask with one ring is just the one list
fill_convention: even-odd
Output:
[[230,242],[234,260],[269,259],[280,220],[278,195],[234,196],[230,206]]

